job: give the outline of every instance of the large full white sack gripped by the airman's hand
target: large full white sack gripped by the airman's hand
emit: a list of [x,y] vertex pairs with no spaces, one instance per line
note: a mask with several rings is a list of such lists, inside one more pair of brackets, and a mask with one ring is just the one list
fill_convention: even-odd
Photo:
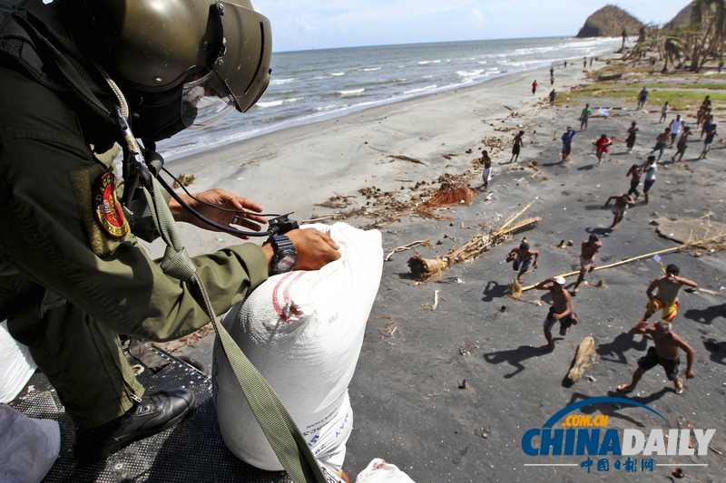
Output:
[[[338,243],[340,259],[317,271],[270,276],[222,324],[278,394],[316,458],[337,473],[353,424],[348,384],[378,294],[383,249],[378,230],[315,227]],[[212,378],[227,447],[257,468],[282,469],[219,341]]]

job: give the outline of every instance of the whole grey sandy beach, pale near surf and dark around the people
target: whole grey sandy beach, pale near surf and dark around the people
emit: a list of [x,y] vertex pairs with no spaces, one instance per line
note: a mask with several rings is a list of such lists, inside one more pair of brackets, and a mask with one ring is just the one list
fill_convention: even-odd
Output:
[[[651,111],[646,113],[634,111],[634,99],[591,99],[593,107],[627,110],[612,110],[609,119],[592,118],[589,129],[574,138],[574,159],[558,165],[560,136],[568,125],[579,129],[577,120],[584,107],[582,99],[568,105],[566,98],[571,87],[585,80],[582,69],[572,63],[567,69],[561,65],[555,69],[554,88],[558,99],[565,101],[556,108],[548,105],[548,69],[541,69],[280,130],[168,165],[175,174],[196,176],[193,191],[224,188],[259,202],[266,212],[294,211],[295,218],[304,220],[340,211],[316,206],[337,194],[357,197],[348,209],[365,205],[367,199],[358,193],[360,188],[375,186],[410,196],[413,191],[409,188],[417,181],[475,169],[472,160],[485,148],[485,137],[509,141],[520,126],[525,130],[519,163],[506,164],[511,148],[495,152],[490,202],[485,204],[486,196],[480,195],[471,206],[441,212],[450,219],[403,217],[381,227],[386,253],[417,240],[430,240],[435,245],[398,253],[384,265],[378,300],[370,314],[378,320],[368,323],[349,388],[355,423],[344,469],[351,477],[379,457],[418,482],[654,480],[656,475],[661,479],[670,475],[684,463],[709,465],[684,468],[691,478],[722,478],[726,459],[712,450],[702,457],[655,457],[656,464],[672,466],[654,467],[652,475],[646,476],[613,469],[614,461],[624,458],[612,455],[607,457],[609,472],[598,472],[595,464],[588,475],[587,469],[580,467],[586,457],[533,458],[521,449],[525,431],[541,428],[564,406],[594,397],[623,397],[615,389],[630,382],[637,359],[652,345],[643,336],[626,332],[643,316],[645,289],[662,269],[646,258],[587,275],[586,280],[593,284],[604,280],[606,288],[583,286],[573,296],[580,324],[564,338],[555,326],[554,351],[544,353],[539,347],[545,342],[542,324],[549,296],[541,291],[522,295],[529,301],[544,301],[541,306],[505,296],[507,285],[515,278],[511,266],[501,263],[508,251],[522,237],[540,250],[539,269],[525,274],[525,285],[530,285],[577,269],[579,246],[591,233],[603,241],[597,263],[604,265],[677,246],[658,236],[653,219],[695,220],[693,223],[702,227],[709,219],[722,222],[726,211],[723,145],[715,143],[708,159],[695,161],[692,159],[702,146],[696,136],[689,143],[684,168],[676,164],[659,168],[651,205],[631,208],[616,230],[608,230],[613,215],[603,209],[603,203],[611,195],[627,191],[627,169],[635,162],[643,163],[652,149],[655,136],[664,127],[658,124],[660,106],[646,104]],[[535,79],[540,89],[533,96],[531,83]],[[513,116],[513,112],[518,114]],[[686,121],[695,124],[691,119],[694,113],[695,106],[686,112]],[[592,141],[601,133],[624,140],[631,121],[637,121],[640,128],[633,153],[625,154],[623,143],[616,143],[610,156],[597,165]],[[662,160],[670,161],[673,152],[674,148],[666,150]],[[426,164],[391,159],[389,155]],[[539,175],[531,168],[520,169],[532,161],[537,161]],[[481,184],[477,173],[470,179],[474,187]],[[542,217],[535,229],[516,235],[473,261],[447,269],[438,281],[421,285],[411,278],[407,267],[410,256],[446,255],[483,229],[481,223],[494,226],[530,201],[535,203],[527,214]],[[359,217],[347,221],[363,227],[373,220]],[[234,243],[228,235],[192,227],[184,227],[182,236],[191,255]],[[439,239],[443,244],[436,245]],[[574,240],[574,246],[556,248],[563,239]],[[162,253],[158,243],[150,250],[156,256]],[[726,285],[722,253],[701,250],[700,257],[669,253],[662,255],[662,261],[679,265],[681,275],[702,288],[718,292]],[[574,280],[568,277],[566,286],[571,289]],[[437,290],[441,292],[433,311],[429,307]],[[683,427],[691,423],[694,428],[716,428],[711,447],[721,452],[726,452],[722,411],[726,394],[725,299],[726,291],[715,295],[682,292],[673,331],[696,351],[696,377],[685,382],[684,394],[676,395],[662,369],[656,367],[643,376],[638,391],[627,396],[670,418],[673,428],[678,427],[677,420]],[[383,336],[384,326],[391,321],[396,333]],[[586,336],[594,337],[596,361],[583,379],[567,387],[564,376],[577,345]],[[212,338],[205,337],[197,349],[184,354],[211,367]],[[472,345],[469,353],[462,355],[459,348],[466,340]],[[469,389],[457,389],[457,382],[464,379]],[[608,428],[637,428],[646,435],[651,428],[664,428],[656,415],[632,406],[599,404],[581,411],[575,413],[608,415]],[[576,466],[525,467],[530,463]]]

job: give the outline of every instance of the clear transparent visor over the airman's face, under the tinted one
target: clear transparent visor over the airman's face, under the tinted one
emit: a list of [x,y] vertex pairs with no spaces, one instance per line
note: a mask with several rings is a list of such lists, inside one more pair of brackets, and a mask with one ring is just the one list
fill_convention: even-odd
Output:
[[215,71],[182,88],[182,121],[189,129],[210,126],[234,110],[234,97]]

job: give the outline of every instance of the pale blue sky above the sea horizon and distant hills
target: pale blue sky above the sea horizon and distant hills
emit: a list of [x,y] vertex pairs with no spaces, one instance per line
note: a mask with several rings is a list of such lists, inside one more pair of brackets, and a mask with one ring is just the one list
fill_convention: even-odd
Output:
[[[664,24],[690,0],[610,2]],[[603,0],[252,0],[273,52],[397,43],[574,36]]]

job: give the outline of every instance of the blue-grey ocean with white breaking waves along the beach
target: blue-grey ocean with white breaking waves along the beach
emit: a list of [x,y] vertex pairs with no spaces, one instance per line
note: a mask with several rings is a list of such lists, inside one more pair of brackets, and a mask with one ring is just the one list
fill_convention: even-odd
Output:
[[[273,130],[322,121],[369,107],[456,89],[555,65],[582,68],[583,57],[611,53],[621,38],[552,37],[417,43],[273,53],[270,87],[244,114],[232,112],[202,130],[163,140],[168,160]],[[555,69],[555,88],[556,76]],[[538,80],[546,89],[549,79]]]

